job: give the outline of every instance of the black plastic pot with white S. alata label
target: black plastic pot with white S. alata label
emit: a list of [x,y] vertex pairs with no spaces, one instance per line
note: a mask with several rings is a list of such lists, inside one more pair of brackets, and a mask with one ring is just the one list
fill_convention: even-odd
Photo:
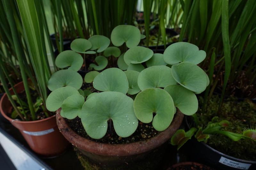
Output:
[[[191,122],[188,117],[185,117],[185,123],[188,128],[189,122]],[[198,142],[195,138],[192,138],[190,141],[193,146],[193,157],[198,160],[202,160],[203,162],[215,167],[216,169],[223,170],[235,170],[235,169],[256,169],[256,161],[249,161],[243,159],[237,159],[232,156],[228,156],[222,152],[219,152],[204,142]]]

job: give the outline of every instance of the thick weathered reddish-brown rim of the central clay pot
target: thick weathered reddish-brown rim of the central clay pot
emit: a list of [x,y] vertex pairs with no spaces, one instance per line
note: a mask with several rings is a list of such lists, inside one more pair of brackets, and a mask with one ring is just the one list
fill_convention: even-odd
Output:
[[184,115],[177,109],[177,113],[174,115],[170,126],[166,130],[158,133],[153,138],[128,144],[106,144],[95,142],[78,135],[68,126],[65,119],[60,116],[60,110],[61,109],[56,111],[56,120],[62,135],[70,143],[72,143],[72,145],[75,145],[81,150],[105,156],[129,156],[148,152],[154,148],[157,148],[172,137],[172,135],[175,133],[173,129],[178,129],[180,127],[184,117]]

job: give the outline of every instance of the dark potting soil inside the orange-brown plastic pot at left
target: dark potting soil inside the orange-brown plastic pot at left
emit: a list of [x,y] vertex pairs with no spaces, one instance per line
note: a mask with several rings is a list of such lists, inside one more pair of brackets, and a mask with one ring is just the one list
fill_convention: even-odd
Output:
[[[33,103],[36,103],[39,94],[37,93],[36,90],[32,90],[32,89],[30,89],[30,93],[31,93],[32,102],[33,102]],[[25,90],[23,90],[21,93],[19,93],[19,97],[20,97],[21,101],[23,101],[24,103],[27,103],[28,100],[27,100],[27,95],[26,95]],[[20,106],[20,104],[19,104],[16,100],[14,100],[14,102],[15,102],[15,104],[16,104],[17,106]],[[44,107],[44,106],[43,106],[43,103],[41,103],[41,107],[39,107],[39,109],[36,111],[36,120],[41,120],[41,119],[47,118],[46,115],[45,115],[45,113],[44,113],[44,111],[43,111],[43,109],[42,109],[42,107]],[[32,118],[31,118],[29,109],[27,108],[27,110],[28,110],[28,112],[27,112],[28,120],[31,121]],[[13,112],[13,111],[14,111],[14,108],[12,108],[12,112]],[[50,113],[48,112],[48,114],[49,114],[49,116],[52,116],[52,115],[55,114],[55,112],[50,112]],[[11,117],[11,114],[8,114],[8,116]],[[11,117],[11,118],[12,118],[12,117]],[[20,119],[20,117],[17,116],[16,119]]]

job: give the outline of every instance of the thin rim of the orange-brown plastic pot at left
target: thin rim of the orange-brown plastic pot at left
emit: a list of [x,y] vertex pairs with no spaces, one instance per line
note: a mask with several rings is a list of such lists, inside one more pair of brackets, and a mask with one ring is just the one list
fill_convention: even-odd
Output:
[[[17,86],[20,86],[23,84],[23,81],[20,81],[19,83],[15,84],[14,87],[17,87]],[[9,89],[9,91],[11,91],[12,88]],[[11,117],[8,117],[2,106],[3,106],[3,102],[4,102],[4,99],[7,97],[6,93],[4,93],[4,95],[2,96],[1,100],[0,100],[0,112],[2,113],[2,115],[4,116],[4,118],[6,118],[8,121],[10,122],[16,122],[16,123],[20,123],[20,124],[34,124],[34,123],[39,123],[39,122],[43,122],[43,121],[46,121],[46,120],[49,120],[51,119],[52,117],[55,117],[55,115],[51,116],[51,117],[47,117],[45,119],[41,119],[41,120],[34,120],[34,121],[21,121],[21,120],[15,120],[15,119],[12,119]],[[7,97],[8,98],[8,97]]]

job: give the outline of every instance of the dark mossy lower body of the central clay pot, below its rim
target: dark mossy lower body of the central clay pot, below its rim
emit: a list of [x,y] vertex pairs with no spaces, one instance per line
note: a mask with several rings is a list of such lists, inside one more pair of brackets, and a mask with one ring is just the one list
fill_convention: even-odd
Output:
[[[161,149],[157,149],[154,152],[148,154],[143,160],[138,162],[132,163],[124,163],[120,166],[108,166],[108,165],[100,165],[96,162],[93,162],[91,159],[84,156],[81,152],[79,152],[75,147],[74,150],[76,151],[77,158],[81,162],[82,166],[86,170],[130,170],[130,169],[157,169],[159,167],[159,163],[164,156],[164,147]],[[157,152],[157,155],[156,155]]]

